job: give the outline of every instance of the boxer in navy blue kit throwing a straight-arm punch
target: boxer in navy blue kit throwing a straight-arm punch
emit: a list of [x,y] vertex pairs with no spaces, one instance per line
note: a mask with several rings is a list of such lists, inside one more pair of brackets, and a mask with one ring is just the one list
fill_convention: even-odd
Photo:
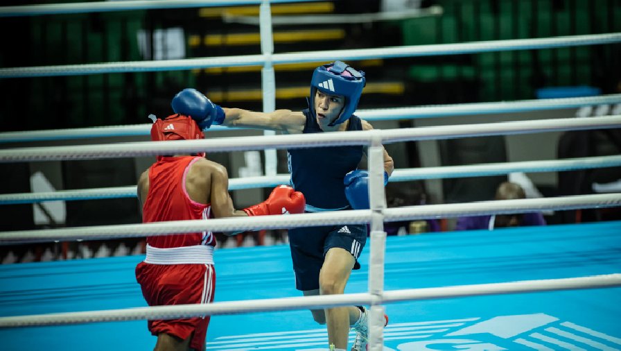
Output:
[[[308,109],[263,113],[220,108],[195,89],[184,89],[173,99],[175,112],[187,114],[204,130],[211,124],[260,128],[283,134],[371,130],[356,110],[365,73],[344,62],[317,67],[310,81]],[[176,107],[175,107],[176,106]],[[369,208],[368,173],[358,169],[364,146],[332,146],[288,150],[291,185],[306,197],[306,212]],[[394,169],[384,151],[385,180]],[[344,224],[289,230],[296,287],[304,296],[344,293],[352,269],[367,241],[367,226]],[[313,310],[317,323],[327,324],[329,345],[346,350],[349,328],[356,330],[351,350],[367,348],[367,309],[335,307]],[[387,317],[386,322],[387,322]]]

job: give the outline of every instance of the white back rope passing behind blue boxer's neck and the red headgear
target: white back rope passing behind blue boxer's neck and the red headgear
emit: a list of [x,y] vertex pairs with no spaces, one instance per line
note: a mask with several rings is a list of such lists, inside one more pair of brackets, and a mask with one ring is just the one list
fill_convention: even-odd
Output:
[[[463,103],[455,105],[412,106],[404,108],[385,108],[358,110],[356,116],[367,121],[392,121],[398,119],[421,119],[430,117],[452,117],[470,114],[491,114],[527,112],[539,110],[559,110],[580,108],[588,105],[607,105],[621,103],[621,94],[587,96],[561,99],[539,99],[521,101],[500,101],[493,103]],[[29,130],[19,132],[0,132],[0,144],[8,142],[40,142],[46,140],[66,140],[93,137],[127,137],[149,135],[151,123],[130,126],[107,126],[55,130]],[[235,128],[237,130],[243,128]],[[231,128],[211,126],[207,131],[222,131]]]

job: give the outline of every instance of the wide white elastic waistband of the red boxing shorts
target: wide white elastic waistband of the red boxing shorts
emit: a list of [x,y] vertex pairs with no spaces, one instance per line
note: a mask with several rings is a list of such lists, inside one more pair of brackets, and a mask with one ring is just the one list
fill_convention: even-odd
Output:
[[147,257],[144,262],[148,264],[213,264],[213,246],[154,248],[147,245]]

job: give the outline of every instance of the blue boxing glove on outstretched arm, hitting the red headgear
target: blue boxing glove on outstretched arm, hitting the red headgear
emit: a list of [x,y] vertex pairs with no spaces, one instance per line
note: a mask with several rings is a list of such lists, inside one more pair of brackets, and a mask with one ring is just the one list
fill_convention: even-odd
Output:
[[192,117],[201,130],[208,129],[212,123],[222,124],[225,120],[225,111],[196,89],[187,88],[178,92],[170,105],[176,114]]

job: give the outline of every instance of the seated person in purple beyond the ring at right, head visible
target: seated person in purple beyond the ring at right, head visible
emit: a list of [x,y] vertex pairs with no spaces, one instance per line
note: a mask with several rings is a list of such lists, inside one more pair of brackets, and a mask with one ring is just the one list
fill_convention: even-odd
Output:
[[[524,189],[514,182],[502,182],[496,189],[496,200],[513,200],[516,198],[526,198],[526,195]],[[541,212],[460,217],[457,219],[455,230],[493,230],[494,228],[528,225],[545,225],[545,219],[543,219]]]

